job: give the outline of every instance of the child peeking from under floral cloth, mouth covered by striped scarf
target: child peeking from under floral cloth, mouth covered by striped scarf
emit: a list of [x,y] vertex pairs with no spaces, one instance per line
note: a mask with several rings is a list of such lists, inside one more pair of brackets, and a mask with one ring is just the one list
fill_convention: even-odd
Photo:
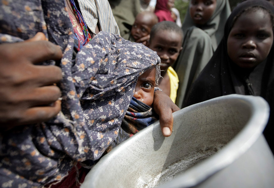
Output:
[[154,98],[154,87],[158,85],[159,78],[159,64],[151,66],[139,76],[134,95],[122,120],[118,137],[111,143],[105,153],[159,119],[151,107]]

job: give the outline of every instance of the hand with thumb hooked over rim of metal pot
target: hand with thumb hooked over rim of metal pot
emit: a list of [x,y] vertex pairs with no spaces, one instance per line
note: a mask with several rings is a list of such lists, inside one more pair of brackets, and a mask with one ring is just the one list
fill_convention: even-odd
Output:
[[153,109],[159,115],[163,136],[170,136],[173,127],[172,113],[180,110],[180,108],[164,92],[156,90],[154,92]]

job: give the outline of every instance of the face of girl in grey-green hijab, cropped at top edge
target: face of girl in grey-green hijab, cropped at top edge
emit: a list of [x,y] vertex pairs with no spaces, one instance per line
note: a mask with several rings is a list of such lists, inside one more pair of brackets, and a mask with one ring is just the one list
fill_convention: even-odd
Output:
[[190,16],[195,24],[204,25],[216,9],[216,0],[191,0]]

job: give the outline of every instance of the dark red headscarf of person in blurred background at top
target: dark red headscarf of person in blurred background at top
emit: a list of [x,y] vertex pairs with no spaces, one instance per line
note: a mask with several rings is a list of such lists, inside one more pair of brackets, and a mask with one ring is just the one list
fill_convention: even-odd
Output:
[[169,9],[167,9],[167,2],[168,0],[157,0],[155,5],[154,13],[158,17],[158,21],[171,21],[174,22],[174,20],[171,18],[171,12]]

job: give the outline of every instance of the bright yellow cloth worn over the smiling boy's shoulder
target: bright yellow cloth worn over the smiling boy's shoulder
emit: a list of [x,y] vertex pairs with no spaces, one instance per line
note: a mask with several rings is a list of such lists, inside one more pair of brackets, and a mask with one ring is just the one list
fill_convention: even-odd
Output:
[[170,99],[175,103],[177,97],[177,89],[179,86],[179,78],[177,73],[174,71],[172,67],[167,69],[167,75],[170,80]]

